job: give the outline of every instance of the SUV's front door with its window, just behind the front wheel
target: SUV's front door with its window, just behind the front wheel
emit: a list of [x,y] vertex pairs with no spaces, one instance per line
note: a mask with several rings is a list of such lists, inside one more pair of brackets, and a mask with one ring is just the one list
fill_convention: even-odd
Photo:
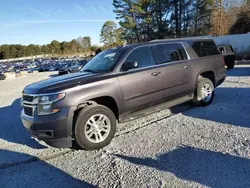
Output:
[[162,69],[155,66],[150,46],[134,49],[124,63],[134,61],[139,64],[139,67],[126,72],[121,71],[118,78],[123,94],[124,112],[145,108],[163,97]]

